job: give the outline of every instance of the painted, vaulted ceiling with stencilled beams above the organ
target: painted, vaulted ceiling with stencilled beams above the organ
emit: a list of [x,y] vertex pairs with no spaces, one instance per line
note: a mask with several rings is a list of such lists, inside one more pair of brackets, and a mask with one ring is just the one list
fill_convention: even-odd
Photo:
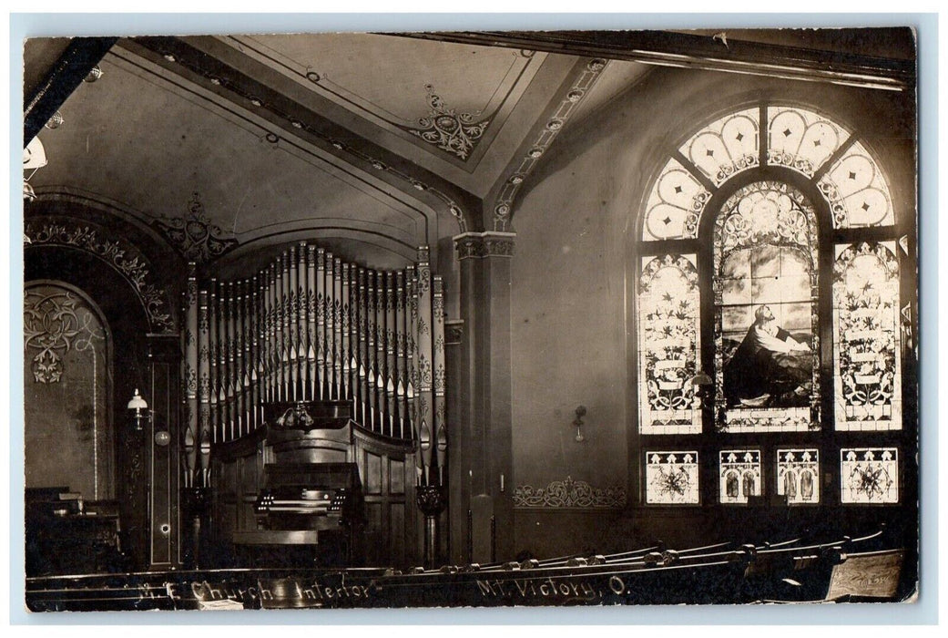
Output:
[[[25,77],[62,47],[27,44]],[[189,229],[230,261],[318,238],[397,268],[477,230],[524,161],[646,68],[592,63],[374,34],[123,39],[39,134],[48,164],[30,185],[198,261],[215,255]]]

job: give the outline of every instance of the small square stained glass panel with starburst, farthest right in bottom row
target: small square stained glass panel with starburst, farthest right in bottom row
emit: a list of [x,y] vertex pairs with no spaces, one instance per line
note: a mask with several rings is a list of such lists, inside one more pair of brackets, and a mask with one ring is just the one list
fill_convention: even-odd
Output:
[[842,502],[899,502],[899,450],[894,447],[844,448],[840,452]]

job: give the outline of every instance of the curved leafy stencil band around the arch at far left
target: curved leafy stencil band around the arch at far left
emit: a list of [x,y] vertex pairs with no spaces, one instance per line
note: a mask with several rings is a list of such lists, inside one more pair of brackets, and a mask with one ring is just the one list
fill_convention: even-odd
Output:
[[30,248],[64,246],[100,258],[135,289],[152,332],[174,331],[168,292],[153,283],[151,263],[123,237],[113,238],[110,229],[84,220],[53,216],[30,219],[23,233],[24,243]]

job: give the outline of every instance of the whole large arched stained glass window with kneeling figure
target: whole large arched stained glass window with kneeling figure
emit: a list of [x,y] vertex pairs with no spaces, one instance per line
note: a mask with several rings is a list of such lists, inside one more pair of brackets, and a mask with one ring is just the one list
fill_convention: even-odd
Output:
[[646,453],[644,501],[899,502],[909,239],[867,144],[764,102],[676,141],[662,166],[635,261],[635,391],[644,449],[679,451]]

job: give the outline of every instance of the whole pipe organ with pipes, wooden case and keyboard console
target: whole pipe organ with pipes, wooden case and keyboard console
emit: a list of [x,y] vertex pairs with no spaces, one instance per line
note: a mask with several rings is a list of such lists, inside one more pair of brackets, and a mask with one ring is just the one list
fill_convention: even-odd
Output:
[[397,272],[306,243],[248,279],[199,289],[192,268],[182,338],[192,563],[434,559],[447,505],[443,295],[424,247]]

